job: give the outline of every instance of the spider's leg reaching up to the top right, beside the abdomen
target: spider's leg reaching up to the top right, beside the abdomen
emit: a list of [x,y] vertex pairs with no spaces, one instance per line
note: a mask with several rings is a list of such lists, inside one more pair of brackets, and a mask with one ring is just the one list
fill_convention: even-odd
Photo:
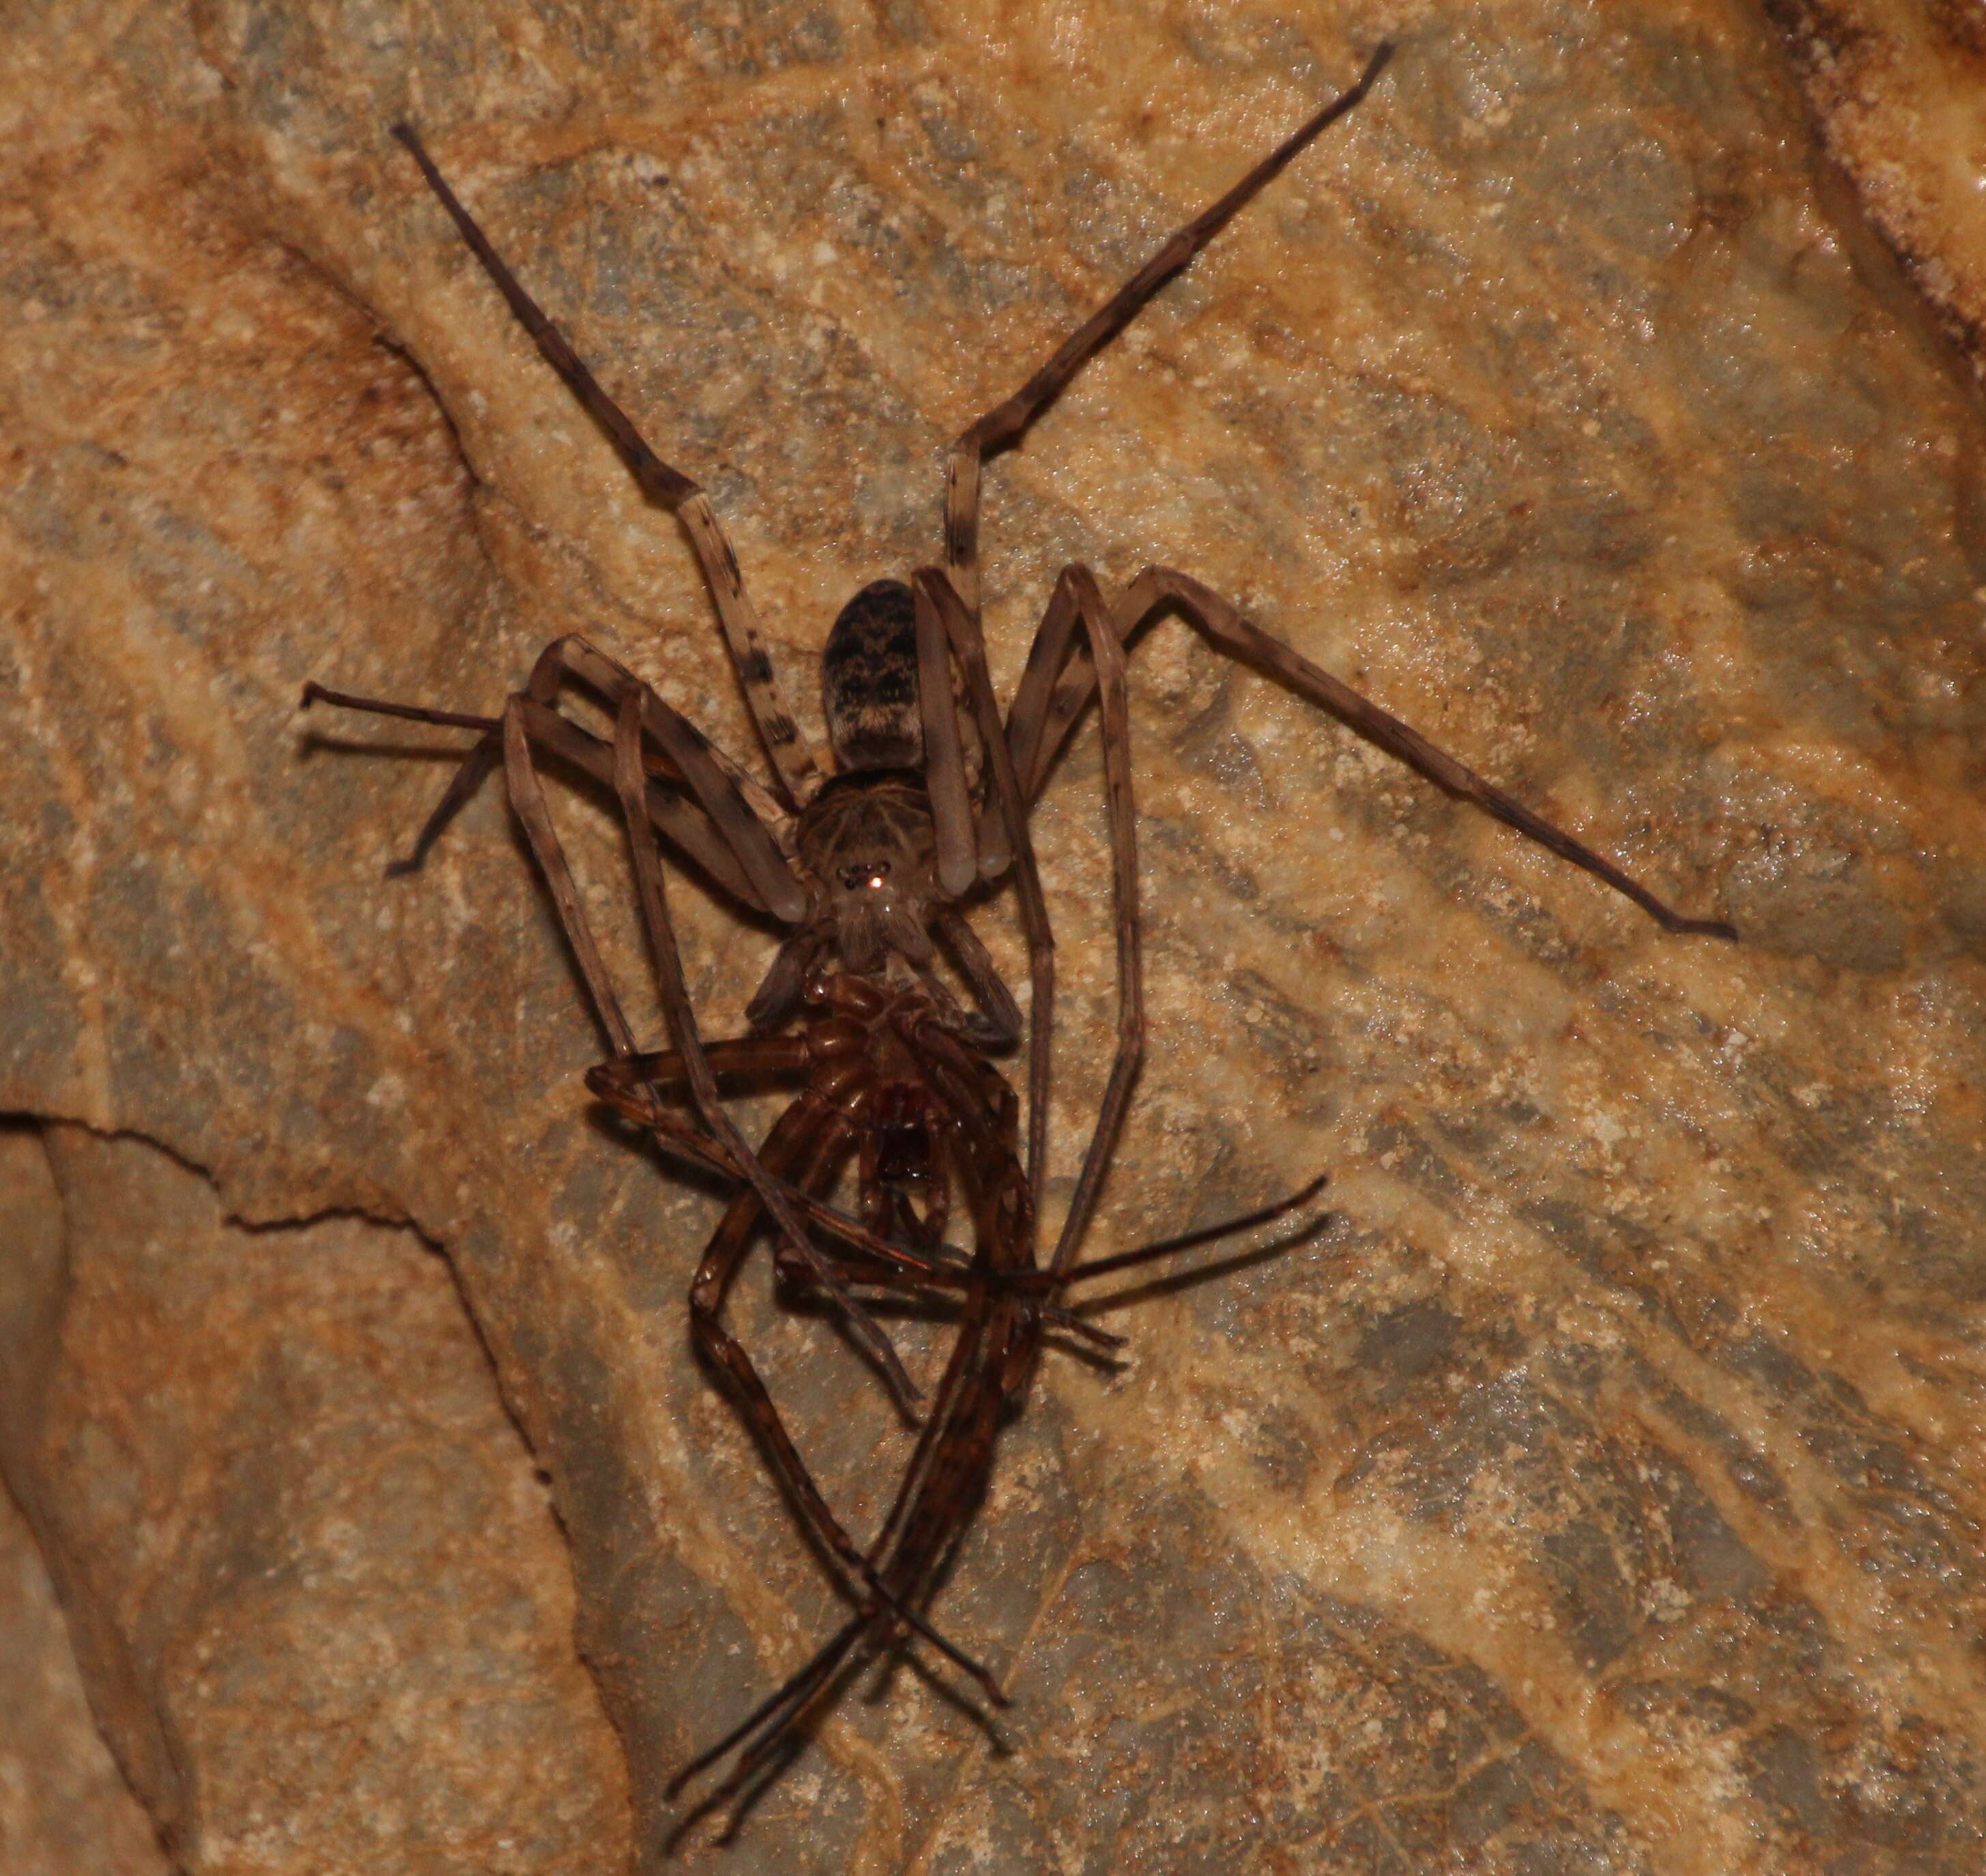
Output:
[[979,618],[979,473],[987,457],[1019,443],[1027,427],[1063,393],[1068,380],[1138,316],[1152,294],[1219,234],[1271,177],[1281,175],[1319,131],[1343,117],[1372,89],[1390,58],[1392,46],[1380,46],[1366,60],[1364,72],[1348,91],[1341,91],[1269,151],[1219,201],[1207,203],[1184,229],[1176,229],[1130,280],[1055,348],[1049,362],[1021,390],[1005,403],[993,405],[951,445],[945,469],[945,572],[975,622]]

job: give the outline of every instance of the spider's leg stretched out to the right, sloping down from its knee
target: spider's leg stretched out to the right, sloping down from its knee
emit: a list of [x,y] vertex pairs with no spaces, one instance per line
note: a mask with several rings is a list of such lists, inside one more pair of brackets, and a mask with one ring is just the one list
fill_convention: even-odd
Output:
[[[1388,755],[1396,755],[1410,769],[1426,775],[1436,787],[1464,801],[1476,803],[1486,815],[1493,815],[1517,833],[1527,835],[1541,847],[1571,860],[1595,878],[1605,880],[1625,898],[1640,906],[1666,932],[1696,934],[1702,938],[1732,938],[1738,928],[1724,918],[1688,918],[1670,904],[1656,898],[1632,874],[1625,872],[1605,855],[1595,853],[1583,841],[1573,839],[1555,821],[1547,821],[1535,809],[1525,807],[1515,795],[1505,793],[1493,781],[1486,781],[1468,765],[1456,761],[1446,749],[1430,743],[1410,723],[1402,723],[1388,709],[1380,709],[1370,698],[1360,696],[1348,684],[1333,678],[1293,652],[1287,644],[1271,638],[1259,626],[1245,620],[1211,586],[1176,572],[1170,566],[1148,566],[1126,588],[1112,608],[1118,638],[1124,648],[1166,608],[1178,608],[1186,620],[1231,658],[1253,664],[1257,670],[1279,678],[1299,698],[1329,709],[1366,741],[1376,743]],[[1015,694],[1013,711],[1007,719],[1013,765],[1021,775],[1021,785],[1029,801],[1041,793],[1041,785],[1055,761],[1076,717],[1088,707],[1096,694],[1094,664],[1068,664],[1064,670],[1066,646],[1057,654],[1047,646],[1047,626],[1037,638],[1035,654],[1029,658],[1027,674]]]

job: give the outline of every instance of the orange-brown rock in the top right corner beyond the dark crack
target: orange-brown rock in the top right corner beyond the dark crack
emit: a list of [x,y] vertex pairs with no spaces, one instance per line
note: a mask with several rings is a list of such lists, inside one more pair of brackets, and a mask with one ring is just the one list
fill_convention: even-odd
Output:
[[1829,151],[1986,372],[1986,12],[1974,0],[1768,0]]

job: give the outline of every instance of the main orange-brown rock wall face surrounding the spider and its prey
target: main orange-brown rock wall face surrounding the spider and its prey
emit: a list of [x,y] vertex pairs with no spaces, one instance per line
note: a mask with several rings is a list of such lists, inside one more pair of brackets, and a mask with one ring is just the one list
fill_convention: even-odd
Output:
[[[1370,105],[995,467],[995,676],[1059,562],[1184,564],[1748,942],[1662,938],[1162,628],[1134,666],[1152,1057],[1090,1248],[1319,1167],[1337,1224],[1142,1286],[1110,1314],[1124,1375],[1045,1371],[937,1602],[1009,1675],[1013,1751],[900,1673],[723,1866],[1980,1866],[1986,423],[1825,187],[1762,16],[213,0],[8,26],[0,1107],[147,1135],[240,1218],[352,1206],[447,1250],[552,1481],[643,1858],[667,1767],[834,1604],[685,1349],[711,1196],[588,1117],[602,1043],[500,799],[383,884],[451,739],[294,700],[318,676],[487,709],[582,626],[747,735],[685,541],[385,125],[419,121],[707,483],[818,721],[834,606],[935,548],[943,441],[1398,32]],[[1039,819],[1051,1208],[1114,1008],[1096,775],[1078,743]],[[608,823],[566,825],[636,986]],[[771,934],[677,902],[723,1033]],[[1015,964],[1007,910],[983,922]],[[520,1868],[612,1868],[570,1659],[530,1653],[566,1693],[495,1745],[467,1707],[363,1735],[395,1751],[367,1798],[431,1836],[310,1757],[300,1687],[439,1711],[491,1645],[449,1610],[520,1568],[495,1486],[415,1492],[457,1520],[461,1602],[359,1659],[348,1572],[435,1582],[441,1538],[330,1530],[296,1483],[308,1461],[346,1502],[381,1449],[445,1467],[473,1415],[467,1355],[443,1383],[417,1353],[461,1347],[441,1292],[369,1373],[369,1445],[324,1363],[371,1343],[306,1252],[250,1256],[145,1149],[54,1139],[75,1172],[42,1202],[145,1310],[105,1292],[85,1343],[10,1274],[32,1365],[0,1463],[181,1860],[453,1868],[445,1820],[495,1802],[471,1761],[500,1747],[544,1789],[493,1759],[512,1797],[481,1854],[514,1828]],[[99,1186],[123,1176],[151,1196]],[[902,1431],[818,1320],[741,1314],[860,1526]],[[302,1453],[300,1389],[332,1427]],[[429,1389],[457,1389],[431,1447]],[[203,1483],[179,1550],[147,1522],[175,1467]],[[338,1568],[226,1600],[232,1560],[312,1544]],[[300,1761],[324,1838],[272,1826],[250,1860]]]

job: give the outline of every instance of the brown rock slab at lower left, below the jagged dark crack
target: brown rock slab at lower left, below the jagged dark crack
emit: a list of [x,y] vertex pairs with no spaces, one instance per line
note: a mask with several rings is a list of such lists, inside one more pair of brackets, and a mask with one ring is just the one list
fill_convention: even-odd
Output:
[[4,1266],[8,1475],[167,1844],[324,1876],[622,1864],[564,1550],[441,1258],[359,1218],[228,1224],[143,1141],[4,1147],[60,1220]]

